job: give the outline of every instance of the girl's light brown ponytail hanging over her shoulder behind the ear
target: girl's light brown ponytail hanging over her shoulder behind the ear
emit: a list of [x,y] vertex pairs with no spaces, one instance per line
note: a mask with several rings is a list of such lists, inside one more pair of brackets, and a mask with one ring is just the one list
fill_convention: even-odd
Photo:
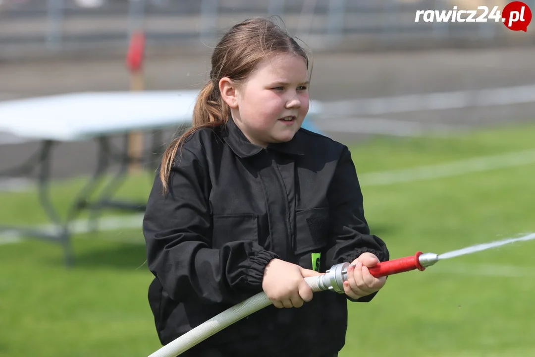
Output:
[[213,80],[210,80],[197,96],[193,109],[192,127],[171,141],[164,152],[160,170],[163,194],[169,191],[171,167],[173,166],[175,155],[184,141],[201,128],[215,128],[225,124],[229,116],[230,108],[221,98],[219,88],[215,86]]

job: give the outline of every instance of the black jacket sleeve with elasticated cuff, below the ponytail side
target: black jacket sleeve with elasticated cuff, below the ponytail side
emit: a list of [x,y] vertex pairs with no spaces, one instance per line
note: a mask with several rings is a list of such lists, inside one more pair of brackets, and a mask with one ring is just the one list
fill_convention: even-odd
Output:
[[207,159],[182,147],[162,194],[159,170],[143,218],[149,270],[175,301],[238,303],[262,291],[276,254],[253,241],[212,249]]

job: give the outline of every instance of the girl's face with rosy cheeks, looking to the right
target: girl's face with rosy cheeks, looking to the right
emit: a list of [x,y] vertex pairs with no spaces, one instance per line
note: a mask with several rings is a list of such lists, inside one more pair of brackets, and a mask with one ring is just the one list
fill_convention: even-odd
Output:
[[308,113],[307,65],[304,58],[278,54],[258,65],[235,88],[232,117],[251,143],[292,140]]

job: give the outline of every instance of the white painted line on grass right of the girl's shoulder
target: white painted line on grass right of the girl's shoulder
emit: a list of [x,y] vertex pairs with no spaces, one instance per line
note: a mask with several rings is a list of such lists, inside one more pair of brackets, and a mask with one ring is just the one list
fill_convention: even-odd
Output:
[[385,186],[460,176],[472,172],[490,171],[533,163],[535,163],[535,150],[525,150],[469,158],[445,164],[418,166],[411,169],[362,173],[359,175],[359,180],[361,186]]

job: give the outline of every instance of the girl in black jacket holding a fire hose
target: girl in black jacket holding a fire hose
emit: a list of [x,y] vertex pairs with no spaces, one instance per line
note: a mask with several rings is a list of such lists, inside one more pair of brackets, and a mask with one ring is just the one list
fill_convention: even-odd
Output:
[[[348,148],[301,128],[309,58],[266,19],[228,31],[193,127],[167,148],[143,221],[162,344],[264,291],[272,306],[183,356],[336,356],[347,300],[370,301],[389,259],[370,234]],[[345,294],[304,278],[351,262]]]

